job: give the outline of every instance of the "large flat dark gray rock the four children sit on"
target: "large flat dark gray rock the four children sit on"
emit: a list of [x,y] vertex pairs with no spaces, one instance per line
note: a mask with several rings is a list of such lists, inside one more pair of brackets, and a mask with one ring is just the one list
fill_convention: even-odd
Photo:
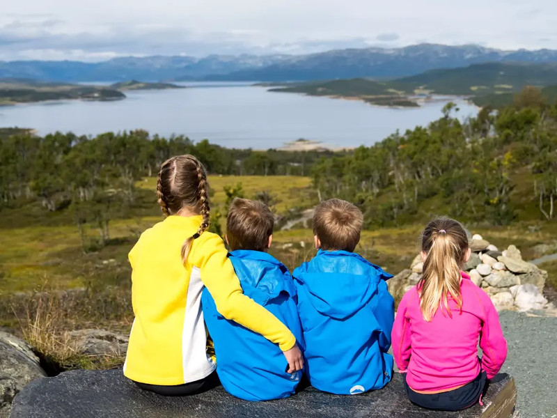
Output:
[[[33,382],[17,395],[11,418],[446,418],[447,412],[423,410],[405,394],[393,373],[384,389],[356,396],[335,396],[307,387],[286,399],[248,402],[222,387],[192,396],[157,396],[139,389],[121,370],[69,371]],[[485,406],[450,413],[453,418],[510,418],[516,404],[515,382],[499,374],[489,384]]]

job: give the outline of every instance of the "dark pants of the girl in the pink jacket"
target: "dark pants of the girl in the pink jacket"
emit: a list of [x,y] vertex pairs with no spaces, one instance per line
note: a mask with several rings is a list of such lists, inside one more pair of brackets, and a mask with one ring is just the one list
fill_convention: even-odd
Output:
[[480,400],[483,393],[487,375],[482,371],[478,376],[466,385],[448,392],[439,394],[418,394],[408,386],[406,373],[404,374],[406,394],[412,403],[430,410],[458,411],[470,408]]

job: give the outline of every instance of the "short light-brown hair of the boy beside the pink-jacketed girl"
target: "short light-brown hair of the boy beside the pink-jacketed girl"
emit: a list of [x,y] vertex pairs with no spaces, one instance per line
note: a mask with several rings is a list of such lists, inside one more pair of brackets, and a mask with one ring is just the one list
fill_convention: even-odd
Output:
[[321,202],[313,213],[313,233],[325,250],[354,251],[360,241],[362,225],[361,210],[340,199]]

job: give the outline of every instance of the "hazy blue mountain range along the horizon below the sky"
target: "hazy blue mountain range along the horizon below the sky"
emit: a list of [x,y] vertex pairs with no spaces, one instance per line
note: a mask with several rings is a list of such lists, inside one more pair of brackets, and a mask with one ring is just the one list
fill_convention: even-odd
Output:
[[410,77],[427,70],[475,63],[555,63],[557,50],[504,51],[478,45],[420,44],[402,48],[338,49],[307,55],[121,57],[81,61],[0,61],[0,78],[57,82],[260,81]]

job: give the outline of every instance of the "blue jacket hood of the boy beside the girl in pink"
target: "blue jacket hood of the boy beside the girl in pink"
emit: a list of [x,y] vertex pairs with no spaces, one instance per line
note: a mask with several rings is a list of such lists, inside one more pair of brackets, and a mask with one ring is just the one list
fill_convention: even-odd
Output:
[[377,292],[379,280],[393,277],[359,254],[322,250],[293,276],[313,307],[336,319],[356,314]]

